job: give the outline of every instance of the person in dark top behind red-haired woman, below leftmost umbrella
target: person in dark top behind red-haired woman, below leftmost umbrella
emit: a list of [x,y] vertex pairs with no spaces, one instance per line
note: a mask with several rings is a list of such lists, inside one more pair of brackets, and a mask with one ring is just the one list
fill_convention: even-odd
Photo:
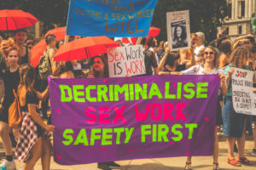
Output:
[[15,31],[15,42],[16,46],[20,49],[19,51],[19,64],[22,65],[24,63],[30,63],[30,51],[26,48],[26,39],[27,39],[27,31],[26,29],[21,29]]

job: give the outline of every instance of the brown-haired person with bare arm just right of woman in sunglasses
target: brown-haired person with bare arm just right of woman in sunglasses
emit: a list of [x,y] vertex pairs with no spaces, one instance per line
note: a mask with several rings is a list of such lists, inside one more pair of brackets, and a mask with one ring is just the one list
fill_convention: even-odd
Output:
[[230,64],[230,54],[233,50],[232,46],[233,42],[230,39],[225,39],[220,42],[218,47],[219,52],[221,52],[219,55],[219,68],[224,69],[226,65]]

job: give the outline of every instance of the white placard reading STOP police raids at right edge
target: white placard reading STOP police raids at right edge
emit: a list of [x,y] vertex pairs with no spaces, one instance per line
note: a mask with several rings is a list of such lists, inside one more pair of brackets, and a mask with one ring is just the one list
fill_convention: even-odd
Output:
[[236,113],[256,115],[253,94],[253,71],[234,68],[232,74],[232,100]]

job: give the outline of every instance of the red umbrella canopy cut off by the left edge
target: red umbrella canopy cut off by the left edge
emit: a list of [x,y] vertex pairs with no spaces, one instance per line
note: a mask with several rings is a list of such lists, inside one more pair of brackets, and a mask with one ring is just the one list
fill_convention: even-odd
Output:
[[0,31],[19,30],[34,26],[38,22],[32,14],[22,10],[0,10]]

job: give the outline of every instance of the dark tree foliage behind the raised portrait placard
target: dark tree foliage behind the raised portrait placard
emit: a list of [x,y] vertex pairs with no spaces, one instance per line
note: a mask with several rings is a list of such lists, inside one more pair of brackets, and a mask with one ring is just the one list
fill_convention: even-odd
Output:
[[161,29],[159,40],[167,40],[166,13],[179,10],[189,10],[191,32],[204,32],[209,42],[216,38],[229,7],[226,0],[159,0],[152,20],[152,26]]

